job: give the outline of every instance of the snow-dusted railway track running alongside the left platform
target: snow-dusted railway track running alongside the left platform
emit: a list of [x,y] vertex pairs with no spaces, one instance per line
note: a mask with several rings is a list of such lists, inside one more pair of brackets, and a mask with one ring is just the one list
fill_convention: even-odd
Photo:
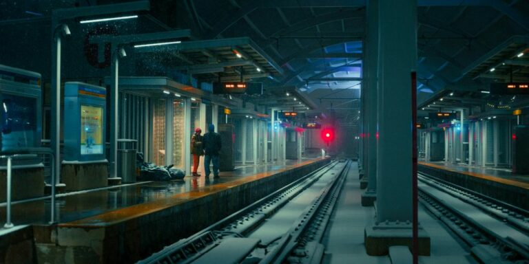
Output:
[[187,239],[138,263],[311,263],[351,161],[305,175]]

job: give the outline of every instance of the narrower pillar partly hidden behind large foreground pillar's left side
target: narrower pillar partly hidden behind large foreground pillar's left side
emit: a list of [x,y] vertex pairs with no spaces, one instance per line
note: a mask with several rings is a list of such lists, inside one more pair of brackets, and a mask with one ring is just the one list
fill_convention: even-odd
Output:
[[[367,3],[367,36],[366,36],[366,56],[364,57],[364,83],[363,97],[366,98],[366,109],[364,115],[367,124],[367,133],[364,133],[367,147],[367,162],[364,168],[364,176],[367,181],[367,190],[362,194],[362,206],[373,206],[377,198],[377,115],[378,115],[378,1],[370,0]],[[360,182],[362,188],[362,182]]]

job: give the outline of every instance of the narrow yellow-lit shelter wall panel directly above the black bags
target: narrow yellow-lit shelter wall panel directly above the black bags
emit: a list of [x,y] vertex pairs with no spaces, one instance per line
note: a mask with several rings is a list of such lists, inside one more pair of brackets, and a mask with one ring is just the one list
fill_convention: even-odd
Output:
[[152,115],[152,162],[165,165],[165,99],[153,100]]

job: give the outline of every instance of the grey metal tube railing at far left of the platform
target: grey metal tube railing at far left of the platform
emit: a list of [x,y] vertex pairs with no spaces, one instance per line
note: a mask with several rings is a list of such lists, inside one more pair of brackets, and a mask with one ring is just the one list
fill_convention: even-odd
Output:
[[[17,157],[19,155],[28,155],[28,154],[36,154],[36,155],[50,155],[51,157],[51,164],[54,164],[55,156],[51,148],[17,148],[17,149],[11,149],[6,151],[0,151],[0,158],[7,159],[7,199],[6,199],[6,224],[3,225],[4,228],[12,228],[13,223],[11,222],[11,179],[12,179],[12,159],[13,157]],[[55,185],[56,185],[56,177],[55,177],[55,171],[54,166],[51,166],[51,219],[50,224],[55,223]]]

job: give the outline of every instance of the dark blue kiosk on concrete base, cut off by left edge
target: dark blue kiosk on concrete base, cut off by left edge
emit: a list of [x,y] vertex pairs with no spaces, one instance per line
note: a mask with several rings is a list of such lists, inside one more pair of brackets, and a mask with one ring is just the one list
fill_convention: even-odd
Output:
[[[0,65],[0,151],[41,146],[41,74]],[[13,199],[44,193],[44,168],[37,155],[13,158]],[[6,160],[0,160],[0,181],[5,186]],[[0,188],[0,201],[6,198]]]

